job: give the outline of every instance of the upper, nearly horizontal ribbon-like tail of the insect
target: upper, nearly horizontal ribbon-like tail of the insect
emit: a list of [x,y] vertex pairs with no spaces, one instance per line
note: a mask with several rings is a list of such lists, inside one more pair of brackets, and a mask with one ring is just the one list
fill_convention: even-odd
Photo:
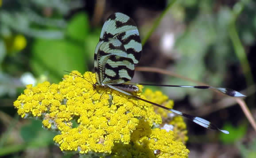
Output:
[[[124,83],[126,84],[126,83]],[[191,85],[157,85],[157,84],[147,84],[147,83],[131,83],[128,82],[127,84],[129,85],[151,85],[151,86],[162,86],[162,87],[181,87],[181,88],[193,88],[193,89],[216,89],[219,92],[222,92],[225,95],[228,96],[233,96],[233,97],[242,97],[244,96],[240,92],[237,92],[233,89],[226,89],[226,88],[215,88],[207,85],[196,85],[196,86],[191,86]]]

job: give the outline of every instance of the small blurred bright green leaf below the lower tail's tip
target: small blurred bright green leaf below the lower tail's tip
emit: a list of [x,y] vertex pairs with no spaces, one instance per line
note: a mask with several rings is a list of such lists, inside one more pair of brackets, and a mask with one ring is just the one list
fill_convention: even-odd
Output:
[[241,124],[239,127],[233,127],[232,124],[226,123],[223,129],[229,131],[229,135],[221,133],[220,135],[221,141],[225,144],[231,144],[239,141],[241,138],[244,137],[247,131],[247,126],[246,124]]

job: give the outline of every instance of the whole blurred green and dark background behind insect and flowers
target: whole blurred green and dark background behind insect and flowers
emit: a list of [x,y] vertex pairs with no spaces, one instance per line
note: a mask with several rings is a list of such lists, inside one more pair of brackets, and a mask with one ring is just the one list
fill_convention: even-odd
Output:
[[[78,157],[63,155],[40,121],[20,119],[13,101],[27,84],[62,81],[64,70],[93,71],[101,27],[114,12],[139,28],[145,43],[138,66],[174,74],[136,71],[134,81],[235,89],[248,95],[255,119],[255,8],[253,0],[0,0],[0,157]],[[190,158],[256,157],[256,133],[235,99],[211,90],[148,88],[230,132],[187,121]]]

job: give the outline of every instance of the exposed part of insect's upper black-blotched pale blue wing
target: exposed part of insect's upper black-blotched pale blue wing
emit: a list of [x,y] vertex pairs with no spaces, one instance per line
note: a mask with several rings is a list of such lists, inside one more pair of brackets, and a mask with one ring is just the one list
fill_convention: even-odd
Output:
[[119,39],[123,43],[127,57],[136,65],[140,61],[142,45],[135,22],[127,15],[115,13],[105,21],[100,36],[101,41],[109,38]]

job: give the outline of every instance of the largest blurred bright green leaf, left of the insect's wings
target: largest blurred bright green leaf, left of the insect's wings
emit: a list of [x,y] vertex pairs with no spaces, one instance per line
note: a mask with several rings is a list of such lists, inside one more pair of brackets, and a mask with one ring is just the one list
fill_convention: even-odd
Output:
[[47,73],[51,81],[61,81],[63,71],[85,72],[85,48],[64,39],[37,39],[32,48],[31,68],[35,74]]

